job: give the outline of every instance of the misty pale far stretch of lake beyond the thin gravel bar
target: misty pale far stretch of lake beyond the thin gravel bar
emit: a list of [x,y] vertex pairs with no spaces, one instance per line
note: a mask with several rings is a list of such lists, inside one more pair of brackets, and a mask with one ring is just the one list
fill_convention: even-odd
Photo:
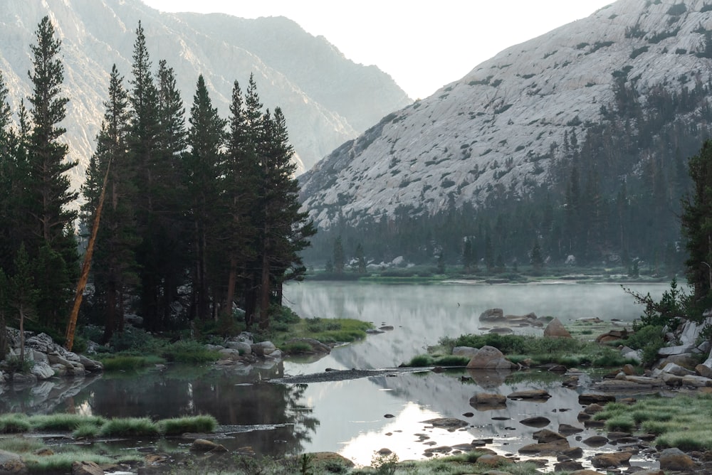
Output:
[[[664,284],[635,285],[659,297]],[[300,316],[352,318],[389,324],[393,331],[368,336],[333,352],[344,368],[392,368],[407,362],[443,336],[482,333],[480,314],[493,307],[506,314],[557,316],[564,323],[598,316],[631,321],[642,309],[618,284],[387,285],[302,282],[285,287],[286,301]]]

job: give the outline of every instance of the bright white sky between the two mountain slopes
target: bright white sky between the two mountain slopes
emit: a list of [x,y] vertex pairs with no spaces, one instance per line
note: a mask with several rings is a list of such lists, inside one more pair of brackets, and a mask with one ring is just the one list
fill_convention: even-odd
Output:
[[501,50],[613,0],[144,0],[160,11],[286,16],[355,63],[377,65],[412,99]]

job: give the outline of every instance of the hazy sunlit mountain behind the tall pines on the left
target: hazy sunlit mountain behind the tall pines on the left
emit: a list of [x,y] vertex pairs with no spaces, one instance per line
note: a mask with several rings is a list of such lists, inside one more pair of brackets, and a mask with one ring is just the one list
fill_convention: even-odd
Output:
[[70,99],[64,139],[70,159],[80,161],[73,170],[75,186],[83,181],[95,148],[112,64],[130,87],[139,21],[154,67],[165,59],[174,68],[187,106],[203,74],[214,104],[226,117],[234,80],[244,90],[253,73],[265,107],[279,106],[286,116],[301,171],[411,102],[389,75],[347,60],[325,38],[306,33],[287,18],[166,14],[139,0],[28,0],[5,2],[0,11],[0,70],[14,110],[30,92],[29,46],[46,15],[63,42],[63,95]]

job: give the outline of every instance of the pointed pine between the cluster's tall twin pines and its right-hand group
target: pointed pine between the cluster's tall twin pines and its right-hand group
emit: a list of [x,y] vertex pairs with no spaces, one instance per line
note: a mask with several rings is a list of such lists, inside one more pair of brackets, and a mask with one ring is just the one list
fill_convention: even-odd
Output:
[[[223,219],[216,215],[215,206],[220,199],[218,186],[223,169],[222,149],[226,122],[213,107],[202,75],[198,78],[189,122],[191,129],[188,134],[190,152],[187,155],[187,168],[188,196],[192,204],[193,301],[197,317],[207,319],[210,316],[211,297],[209,255],[219,252],[213,239],[216,223]],[[219,261],[219,258],[215,261]]]

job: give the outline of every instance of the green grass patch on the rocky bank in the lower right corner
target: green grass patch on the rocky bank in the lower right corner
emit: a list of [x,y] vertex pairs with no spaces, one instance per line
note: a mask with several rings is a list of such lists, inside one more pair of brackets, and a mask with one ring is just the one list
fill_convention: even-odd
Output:
[[711,450],[712,395],[650,397],[633,405],[611,402],[594,415],[609,430],[656,434],[657,448]]

